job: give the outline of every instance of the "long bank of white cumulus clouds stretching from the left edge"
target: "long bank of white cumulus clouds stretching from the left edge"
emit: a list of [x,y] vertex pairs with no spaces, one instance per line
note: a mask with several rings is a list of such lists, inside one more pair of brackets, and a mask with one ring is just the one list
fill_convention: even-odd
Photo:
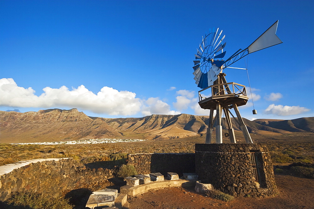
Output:
[[0,79],[0,106],[39,108],[65,106],[108,115],[134,115],[138,112],[147,112],[149,115],[179,113],[171,111],[170,106],[158,98],[141,100],[136,98],[133,92],[118,91],[106,86],[97,94],[86,89],[84,85],[77,89],[68,89],[66,86],[59,89],[46,87],[43,91],[44,93],[37,96],[34,89],[19,87],[12,78]]

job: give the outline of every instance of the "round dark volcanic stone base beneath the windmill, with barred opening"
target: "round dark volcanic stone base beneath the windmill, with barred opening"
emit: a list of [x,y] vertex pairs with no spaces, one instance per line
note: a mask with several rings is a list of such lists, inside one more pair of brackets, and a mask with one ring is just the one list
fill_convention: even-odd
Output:
[[[255,161],[251,159],[254,153]],[[232,196],[276,194],[273,165],[266,144],[195,144],[196,172],[202,183]],[[253,166],[258,171],[255,179]]]

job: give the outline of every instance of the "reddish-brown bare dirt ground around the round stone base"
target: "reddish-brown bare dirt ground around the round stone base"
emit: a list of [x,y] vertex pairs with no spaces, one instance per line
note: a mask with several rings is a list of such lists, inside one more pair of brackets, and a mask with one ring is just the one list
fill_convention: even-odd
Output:
[[268,198],[237,197],[224,202],[198,194],[194,188],[150,190],[128,198],[126,208],[314,208],[314,179],[275,175],[278,195]]

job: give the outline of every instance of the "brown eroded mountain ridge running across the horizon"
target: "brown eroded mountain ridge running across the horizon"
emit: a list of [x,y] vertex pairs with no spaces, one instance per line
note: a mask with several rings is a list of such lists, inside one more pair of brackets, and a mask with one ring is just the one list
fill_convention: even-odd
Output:
[[[90,117],[77,109],[38,112],[0,111],[0,142],[39,142],[99,138],[172,139],[206,134],[208,116],[148,115],[140,118]],[[243,118],[251,134],[314,132],[314,117],[293,120]],[[240,126],[231,119],[235,131]],[[222,126],[225,129],[226,121]]]

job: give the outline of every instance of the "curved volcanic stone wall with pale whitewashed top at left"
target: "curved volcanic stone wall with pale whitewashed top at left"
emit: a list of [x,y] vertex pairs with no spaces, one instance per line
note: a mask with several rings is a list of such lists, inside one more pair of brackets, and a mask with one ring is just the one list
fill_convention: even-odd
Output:
[[0,201],[12,192],[62,195],[78,188],[109,186],[113,171],[76,166],[72,158],[49,158],[21,161],[0,166]]

